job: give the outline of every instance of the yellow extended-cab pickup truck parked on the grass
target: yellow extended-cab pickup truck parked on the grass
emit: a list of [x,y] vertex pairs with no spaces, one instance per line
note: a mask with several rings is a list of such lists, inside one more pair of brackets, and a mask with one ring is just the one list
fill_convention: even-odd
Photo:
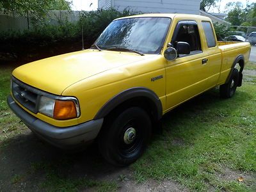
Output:
[[8,104],[52,145],[95,140],[109,163],[124,166],[143,154],[168,111],[215,86],[232,97],[249,54],[247,42],[217,42],[207,17],[124,17],[90,49],[13,70]]

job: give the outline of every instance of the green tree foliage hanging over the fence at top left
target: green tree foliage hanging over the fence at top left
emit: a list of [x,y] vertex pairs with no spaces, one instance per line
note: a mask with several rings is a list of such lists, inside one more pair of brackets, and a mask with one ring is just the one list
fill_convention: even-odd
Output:
[[20,15],[30,13],[33,17],[42,17],[49,10],[70,10],[66,0],[0,0],[4,13],[16,12]]

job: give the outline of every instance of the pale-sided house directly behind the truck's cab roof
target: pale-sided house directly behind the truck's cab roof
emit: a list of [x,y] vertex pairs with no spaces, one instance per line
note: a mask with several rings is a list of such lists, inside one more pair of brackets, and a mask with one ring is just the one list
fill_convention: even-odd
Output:
[[198,14],[200,0],[98,0],[98,8],[107,10],[125,8],[143,13],[188,13]]

